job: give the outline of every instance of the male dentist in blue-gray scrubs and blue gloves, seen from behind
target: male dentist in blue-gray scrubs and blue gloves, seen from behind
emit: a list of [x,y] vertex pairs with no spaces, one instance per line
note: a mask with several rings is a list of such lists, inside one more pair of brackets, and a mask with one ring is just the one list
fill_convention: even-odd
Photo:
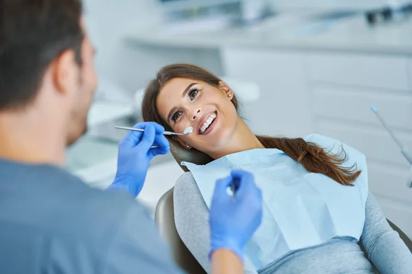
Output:
[[[141,123],[144,133],[122,140],[106,191],[64,169],[66,147],[86,131],[93,54],[80,0],[0,2],[0,273],[182,273],[134,199],[150,160],[169,151],[163,127]],[[235,203],[226,193],[233,179]],[[252,175],[216,183],[213,273],[242,273],[242,249],[261,220]]]

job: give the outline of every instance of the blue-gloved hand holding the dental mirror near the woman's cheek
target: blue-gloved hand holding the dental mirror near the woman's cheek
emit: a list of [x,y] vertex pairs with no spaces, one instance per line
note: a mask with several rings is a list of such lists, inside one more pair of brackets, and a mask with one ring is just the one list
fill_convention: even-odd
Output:
[[[139,195],[144,186],[150,160],[159,154],[170,151],[168,139],[162,134],[165,129],[161,125],[148,122],[139,123],[135,128],[144,132],[130,131],[119,143],[117,155],[117,173],[109,189],[122,189],[133,197]],[[150,149],[152,146],[158,148]]]

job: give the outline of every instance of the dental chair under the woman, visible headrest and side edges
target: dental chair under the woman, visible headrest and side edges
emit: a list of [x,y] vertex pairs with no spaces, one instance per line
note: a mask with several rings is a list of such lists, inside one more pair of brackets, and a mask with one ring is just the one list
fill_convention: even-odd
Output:
[[[179,164],[182,161],[192,162],[195,164],[207,164],[211,161],[211,158],[204,153],[196,151],[196,149],[184,149],[174,140],[170,140],[170,151],[172,152],[174,159]],[[187,172],[185,166],[181,166],[181,168]],[[190,253],[177,233],[176,225],[174,224],[173,188],[166,192],[160,198],[159,203],[157,203],[155,220],[159,227],[161,236],[163,236],[163,238],[165,238],[165,240],[167,240],[170,244],[176,264],[181,266],[182,269],[190,274],[205,273],[201,265],[198,264],[194,256],[192,256],[192,253]],[[388,223],[391,225],[393,230],[398,232],[400,238],[402,238],[409,250],[412,252],[411,239],[409,239],[399,227],[391,223],[391,221],[388,220]]]

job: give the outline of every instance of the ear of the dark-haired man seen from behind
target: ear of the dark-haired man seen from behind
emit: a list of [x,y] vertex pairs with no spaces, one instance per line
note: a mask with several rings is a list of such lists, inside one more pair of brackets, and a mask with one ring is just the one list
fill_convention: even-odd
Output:
[[69,49],[63,51],[53,62],[53,66],[53,80],[56,90],[62,94],[76,90],[80,70],[76,62],[76,53]]

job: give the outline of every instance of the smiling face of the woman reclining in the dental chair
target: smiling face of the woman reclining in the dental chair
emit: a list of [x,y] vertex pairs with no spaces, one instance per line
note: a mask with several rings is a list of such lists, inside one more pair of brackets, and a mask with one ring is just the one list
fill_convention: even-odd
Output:
[[223,82],[216,88],[198,80],[175,78],[161,89],[156,106],[174,132],[193,127],[192,134],[176,139],[181,145],[213,153],[224,148],[236,130],[238,113],[232,98],[233,92]]

